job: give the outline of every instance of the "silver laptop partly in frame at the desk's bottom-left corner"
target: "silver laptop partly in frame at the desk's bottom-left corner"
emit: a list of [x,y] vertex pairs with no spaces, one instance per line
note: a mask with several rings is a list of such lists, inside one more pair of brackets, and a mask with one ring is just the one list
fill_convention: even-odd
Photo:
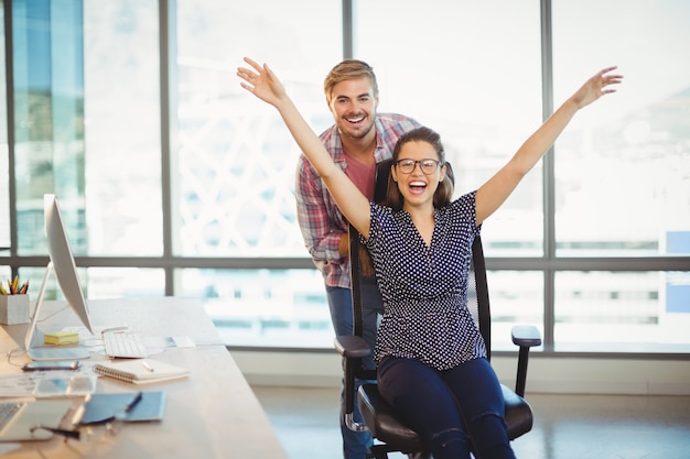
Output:
[[80,402],[65,398],[0,403],[0,441],[47,440],[53,434],[35,427],[72,426],[82,413]]

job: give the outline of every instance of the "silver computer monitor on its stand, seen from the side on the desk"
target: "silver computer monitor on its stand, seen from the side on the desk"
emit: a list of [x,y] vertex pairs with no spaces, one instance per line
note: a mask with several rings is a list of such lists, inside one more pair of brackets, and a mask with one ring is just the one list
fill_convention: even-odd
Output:
[[32,339],[36,331],[36,323],[41,312],[41,304],[43,303],[43,295],[45,293],[45,285],[51,272],[55,273],[60,288],[67,300],[67,304],[72,307],[77,315],[82,324],[93,335],[94,327],[89,317],[88,305],[84,298],[82,292],[82,285],[79,284],[79,277],[77,274],[77,267],[74,263],[74,256],[72,255],[72,249],[69,248],[69,240],[67,239],[67,232],[63,223],[62,214],[60,211],[60,205],[55,195],[45,195],[43,198],[44,215],[45,215],[45,236],[47,238],[47,252],[51,261],[46,267],[43,284],[36,298],[36,307],[33,313],[33,318],[26,332],[26,352],[33,360],[62,360],[62,359],[84,359],[89,357],[87,348],[73,346],[73,347],[45,347],[45,346],[32,346]]

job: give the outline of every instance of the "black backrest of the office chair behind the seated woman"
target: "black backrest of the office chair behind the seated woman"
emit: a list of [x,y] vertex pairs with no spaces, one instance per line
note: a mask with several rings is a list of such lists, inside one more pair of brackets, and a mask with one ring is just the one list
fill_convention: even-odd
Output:
[[[376,203],[384,203],[386,200],[386,192],[388,188],[388,176],[390,174],[390,166],[392,161],[388,160],[377,165],[376,170],[376,186],[374,199]],[[454,181],[452,167],[448,164],[448,177]],[[359,233],[351,226],[349,228],[349,255],[352,262],[351,276],[352,276],[352,295],[353,295],[353,319],[354,319],[354,335],[364,336],[364,329],[367,326],[364,319],[363,308],[363,260],[362,260],[362,243],[359,241]],[[484,342],[486,345],[487,357],[490,359],[490,342],[492,342],[492,321],[490,321],[490,306],[488,298],[488,286],[486,282],[486,264],[484,261],[484,250],[482,248],[482,239],[477,236],[472,244],[472,266],[470,272],[468,288],[467,288],[467,307],[473,314]],[[380,323],[380,317],[376,320]],[[374,349],[374,342],[368,343]],[[371,370],[369,365],[363,364],[363,368],[356,372],[356,378],[360,380],[375,380],[376,370]]]

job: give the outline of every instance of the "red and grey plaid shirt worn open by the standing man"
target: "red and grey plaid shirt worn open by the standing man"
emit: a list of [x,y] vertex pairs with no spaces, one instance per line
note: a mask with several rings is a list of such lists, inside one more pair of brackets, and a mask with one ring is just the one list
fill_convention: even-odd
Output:
[[[376,129],[374,157],[379,163],[392,156],[400,135],[421,124],[401,114],[378,113],[374,125]],[[345,171],[347,161],[335,125],[328,128],[320,138],[333,161]],[[304,245],[323,274],[325,284],[349,288],[349,258],[342,258],[338,253],[341,234],[347,233],[349,225],[304,155],[299,160],[294,190]]]

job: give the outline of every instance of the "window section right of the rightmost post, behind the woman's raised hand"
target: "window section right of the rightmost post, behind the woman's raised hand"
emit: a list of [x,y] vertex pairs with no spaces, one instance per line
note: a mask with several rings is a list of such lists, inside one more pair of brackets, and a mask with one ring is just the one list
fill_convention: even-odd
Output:
[[[690,62],[677,57],[690,43],[688,18],[690,4],[678,0],[553,1],[556,99],[590,68],[618,65],[626,75],[556,145],[556,255],[590,267],[556,273],[557,349],[690,342],[690,263],[651,264],[690,254]],[[614,258],[628,260],[619,271],[602,266]]]

